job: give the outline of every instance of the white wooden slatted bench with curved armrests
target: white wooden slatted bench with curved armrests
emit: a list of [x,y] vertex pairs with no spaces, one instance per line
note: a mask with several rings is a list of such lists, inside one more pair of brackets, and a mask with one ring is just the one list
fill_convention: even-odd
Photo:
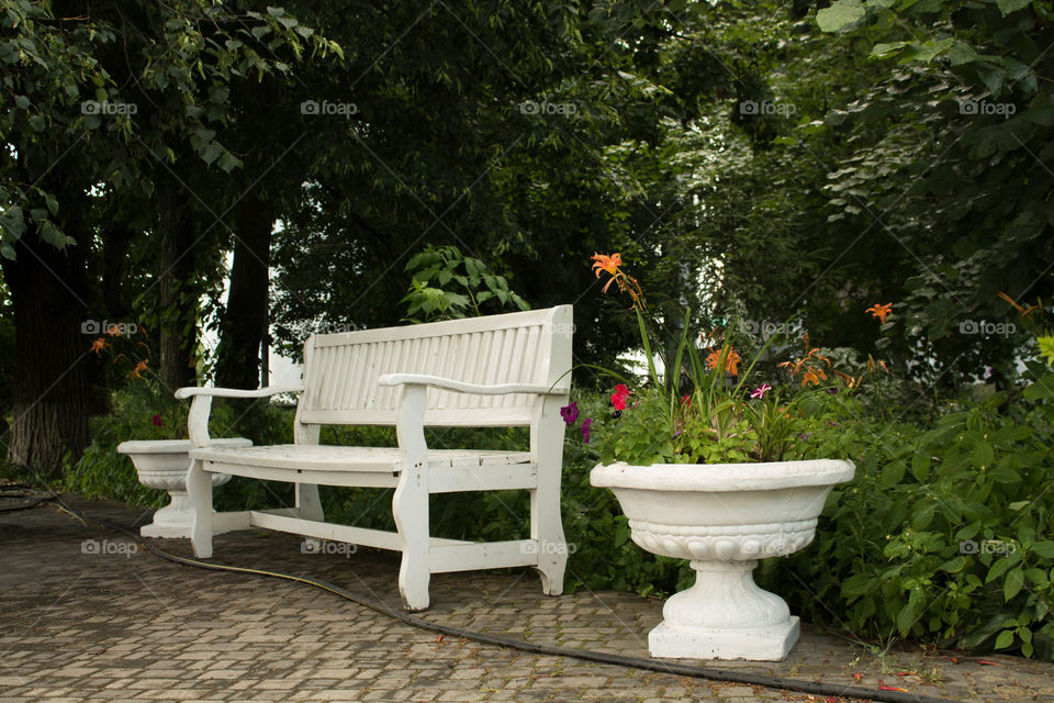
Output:
[[[220,529],[267,527],[402,553],[399,591],[428,607],[430,574],[535,567],[549,595],[563,591],[568,559],[560,520],[563,421],[571,369],[571,305],[403,327],[315,335],[304,347],[303,388],[256,391],[181,388],[193,398],[188,426],[195,509],[192,543],[212,556]],[[206,446],[212,398],[300,392],[291,445]],[[321,425],[394,425],[399,446],[318,444]],[[523,451],[429,449],[426,426],[530,427]],[[211,473],[295,483],[295,505],[213,513]],[[324,522],[322,486],[394,488],[396,532]],[[430,537],[428,496],[455,491],[530,491],[530,537],[463,542]],[[471,510],[471,496],[464,496]]]

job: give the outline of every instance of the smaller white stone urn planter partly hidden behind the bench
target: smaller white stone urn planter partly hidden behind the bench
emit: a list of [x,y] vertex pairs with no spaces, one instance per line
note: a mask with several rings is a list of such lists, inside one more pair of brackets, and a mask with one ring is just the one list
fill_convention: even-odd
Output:
[[[248,447],[251,439],[213,439],[212,444],[225,447]],[[187,470],[190,468],[190,439],[143,439],[122,442],[117,451],[132,458],[139,483],[147,488],[168,491],[171,501],[154,513],[154,522],[143,525],[144,537],[190,537],[194,523],[194,507],[187,494]],[[222,486],[231,480],[226,473],[213,473],[212,484]]]

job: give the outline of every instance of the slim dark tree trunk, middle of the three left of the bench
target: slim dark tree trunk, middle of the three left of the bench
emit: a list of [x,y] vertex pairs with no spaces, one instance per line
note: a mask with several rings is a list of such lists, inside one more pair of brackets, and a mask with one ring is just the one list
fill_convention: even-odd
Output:
[[198,297],[194,278],[193,217],[183,187],[171,180],[161,221],[158,282],[161,322],[161,382],[170,390],[197,386]]

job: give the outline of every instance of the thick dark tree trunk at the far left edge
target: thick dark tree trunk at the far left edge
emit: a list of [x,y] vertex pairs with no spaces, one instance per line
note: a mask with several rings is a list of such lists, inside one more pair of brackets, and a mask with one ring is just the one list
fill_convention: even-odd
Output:
[[[74,224],[67,231],[81,234]],[[88,445],[87,353],[102,321],[86,319],[86,246],[56,249],[31,227],[15,244],[16,260],[3,260],[15,324],[8,460],[45,481],[59,478],[66,453],[76,460]]]

